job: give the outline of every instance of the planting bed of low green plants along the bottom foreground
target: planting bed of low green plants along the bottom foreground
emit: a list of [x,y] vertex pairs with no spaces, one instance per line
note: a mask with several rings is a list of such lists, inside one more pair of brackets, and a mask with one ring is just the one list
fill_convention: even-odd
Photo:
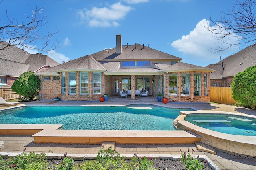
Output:
[[[46,153],[21,153],[8,159],[0,157],[1,170],[211,170],[207,164],[199,161],[188,152],[182,152],[181,160],[173,161],[138,157],[127,159],[116,150],[101,149],[96,160],[74,161],[64,153],[61,160],[47,160]],[[206,162],[204,162],[206,163]]]

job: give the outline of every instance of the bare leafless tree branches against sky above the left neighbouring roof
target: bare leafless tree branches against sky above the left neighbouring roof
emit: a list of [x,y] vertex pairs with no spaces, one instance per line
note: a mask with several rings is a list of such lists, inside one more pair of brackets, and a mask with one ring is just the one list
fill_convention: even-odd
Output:
[[[2,1],[1,1],[2,2]],[[1,46],[0,50],[3,50],[9,46],[23,46],[28,49],[38,49],[40,51],[51,51],[58,47],[58,43],[51,41],[54,34],[58,33],[58,30],[48,31],[46,35],[40,35],[43,26],[47,24],[46,12],[44,7],[32,9],[32,15],[26,16],[25,20],[18,21],[15,17],[9,17],[6,9],[6,20],[3,20],[1,16],[0,27],[0,41],[6,41],[6,45]],[[43,41],[42,47],[38,47],[35,44],[38,41]]]

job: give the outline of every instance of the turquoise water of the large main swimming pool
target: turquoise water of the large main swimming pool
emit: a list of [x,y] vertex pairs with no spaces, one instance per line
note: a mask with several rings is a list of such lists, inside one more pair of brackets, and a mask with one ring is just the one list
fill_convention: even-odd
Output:
[[180,111],[153,105],[25,106],[0,112],[2,124],[63,124],[70,130],[176,130]]

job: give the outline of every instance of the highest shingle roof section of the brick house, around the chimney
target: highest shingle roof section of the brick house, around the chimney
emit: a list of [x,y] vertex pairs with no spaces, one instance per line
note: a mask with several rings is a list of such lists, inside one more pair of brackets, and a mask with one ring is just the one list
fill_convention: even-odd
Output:
[[[135,48],[136,47],[136,48]],[[152,60],[152,59],[173,59],[180,61],[181,58],[170,55],[140,44],[122,45],[122,53],[116,54],[116,48],[106,49],[91,55],[97,61],[120,61],[120,60]]]

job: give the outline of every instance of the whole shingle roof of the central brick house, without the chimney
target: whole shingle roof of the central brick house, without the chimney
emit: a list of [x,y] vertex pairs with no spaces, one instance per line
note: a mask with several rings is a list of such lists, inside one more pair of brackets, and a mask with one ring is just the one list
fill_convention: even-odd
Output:
[[[122,61],[150,61],[150,67],[139,68],[122,68],[120,63]],[[54,66],[47,70],[36,73],[37,75],[58,75],[58,72],[64,71],[98,71],[104,72],[105,75],[159,75],[163,71],[186,71],[186,70],[199,70],[206,72],[214,72],[201,66],[178,62],[170,65],[170,61],[180,61],[181,58],[173,55],[157,51],[155,49],[145,47],[140,44],[122,46],[122,53],[116,54],[116,48],[106,49],[86,55],[78,59],[69,61],[67,63]],[[169,64],[170,63],[170,64]]]

